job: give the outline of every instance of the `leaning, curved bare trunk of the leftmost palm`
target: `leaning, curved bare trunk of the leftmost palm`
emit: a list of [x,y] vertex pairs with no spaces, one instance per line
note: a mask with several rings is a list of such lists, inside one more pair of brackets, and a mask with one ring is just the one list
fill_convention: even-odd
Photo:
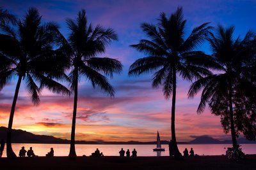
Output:
[[13,123],[13,117],[14,117],[14,111],[15,111],[15,106],[16,102],[18,99],[18,94],[19,94],[19,89],[20,89],[20,83],[22,80],[22,76],[19,76],[16,89],[15,89],[15,94],[13,97],[13,102],[12,102],[12,109],[10,113],[10,118],[9,118],[9,124],[8,124],[8,129],[7,129],[7,137],[6,137],[6,155],[8,159],[15,159],[17,156],[12,150],[12,123]]

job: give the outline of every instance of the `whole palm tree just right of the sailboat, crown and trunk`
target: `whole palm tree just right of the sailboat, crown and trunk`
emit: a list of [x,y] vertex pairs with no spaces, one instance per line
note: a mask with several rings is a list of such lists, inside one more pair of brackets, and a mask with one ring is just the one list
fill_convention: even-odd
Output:
[[208,23],[195,27],[187,39],[184,38],[184,26],[182,8],[177,8],[170,18],[161,13],[157,25],[143,23],[141,28],[150,38],[141,39],[137,45],[131,45],[148,57],[136,60],[129,69],[129,75],[153,73],[152,87],[163,85],[163,93],[166,99],[172,96],[172,142],[175,159],[182,158],[175,137],[175,102],[177,76],[184,80],[192,81],[202,75],[211,72],[205,69],[209,64],[204,52],[196,51],[211,28]]

